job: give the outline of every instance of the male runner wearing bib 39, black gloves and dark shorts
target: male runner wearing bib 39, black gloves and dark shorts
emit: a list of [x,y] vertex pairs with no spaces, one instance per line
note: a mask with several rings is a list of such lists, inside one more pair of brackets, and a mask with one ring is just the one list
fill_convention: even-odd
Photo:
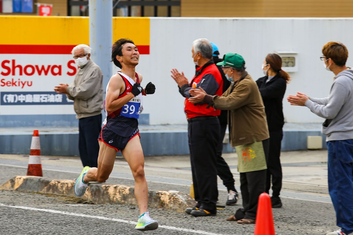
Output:
[[156,88],[152,82],[145,89],[140,86],[142,75],[135,72],[139,52],[133,41],[126,38],[116,41],[112,61],[121,71],[115,73],[107,85],[107,119],[98,137],[98,168],[83,168],[75,183],[75,194],[82,196],[90,181],[106,181],[113,170],[116,153],[121,151],[135,180],[134,192],[140,210],[135,229],[154,230],[158,228],[158,221],[151,219],[147,212],[148,188],[137,119],[143,110],[142,94],[153,94]]

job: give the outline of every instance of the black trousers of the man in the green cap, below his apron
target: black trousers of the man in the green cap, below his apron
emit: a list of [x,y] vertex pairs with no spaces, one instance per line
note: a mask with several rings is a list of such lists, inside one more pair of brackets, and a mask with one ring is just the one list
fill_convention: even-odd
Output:
[[[265,158],[268,159],[269,139],[263,140]],[[239,156],[238,156],[239,157]],[[265,191],[266,169],[240,173],[240,190],[243,208],[235,213],[237,219],[256,219],[257,203],[261,193]]]

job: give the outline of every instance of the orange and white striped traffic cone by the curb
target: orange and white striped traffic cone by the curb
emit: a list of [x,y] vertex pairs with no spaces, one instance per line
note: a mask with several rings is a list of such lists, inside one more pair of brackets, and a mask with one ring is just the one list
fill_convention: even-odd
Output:
[[43,176],[41,163],[41,143],[39,141],[38,130],[33,131],[27,175]]

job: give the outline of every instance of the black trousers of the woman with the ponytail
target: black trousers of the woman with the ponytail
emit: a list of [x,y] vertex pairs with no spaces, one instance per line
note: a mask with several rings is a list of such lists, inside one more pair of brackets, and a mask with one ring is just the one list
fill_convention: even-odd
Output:
[[280,196],[282,188],[281,141],[283,131],[270,131],[270,149],[267,161],[266,191],[269,192],[272,178],[272,196]]

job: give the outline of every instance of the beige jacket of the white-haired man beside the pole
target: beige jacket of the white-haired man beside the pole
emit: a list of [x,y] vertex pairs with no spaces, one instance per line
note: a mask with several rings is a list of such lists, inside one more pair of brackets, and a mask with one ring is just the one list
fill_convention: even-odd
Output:
[[78,70],[66,93],[67,98],[73,100],[77,119],[100,114],[103,109],[102,70],[90,59]]

